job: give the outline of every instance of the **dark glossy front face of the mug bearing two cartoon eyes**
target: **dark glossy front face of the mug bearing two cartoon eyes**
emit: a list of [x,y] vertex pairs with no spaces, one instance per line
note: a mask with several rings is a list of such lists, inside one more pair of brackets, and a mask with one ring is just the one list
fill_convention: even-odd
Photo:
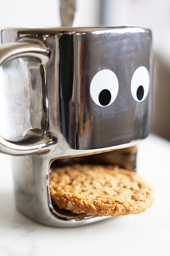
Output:
[[60,49],[69,49],[70,59],[62,58],[60,66],[60,110],[70,145],[104,148],[145,138],[151,104],[149,31],[118,28],[64,36],[70,49]]

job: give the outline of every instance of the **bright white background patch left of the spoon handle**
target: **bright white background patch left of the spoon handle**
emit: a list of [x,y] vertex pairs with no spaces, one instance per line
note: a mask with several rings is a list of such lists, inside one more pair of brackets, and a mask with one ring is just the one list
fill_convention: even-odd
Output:
[[1,0],[0,26],[49,27],[60,22],[56,0]]

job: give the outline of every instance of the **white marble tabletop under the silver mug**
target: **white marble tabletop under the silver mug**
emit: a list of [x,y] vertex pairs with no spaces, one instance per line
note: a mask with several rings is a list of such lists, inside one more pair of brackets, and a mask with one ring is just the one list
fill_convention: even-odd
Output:
[[67,229],[40,225],[15,209],[10,157],[0,154],[0,255],[170,255],[170,142],[151,134],[138,151],[138,173],[156,189],[152,207]]

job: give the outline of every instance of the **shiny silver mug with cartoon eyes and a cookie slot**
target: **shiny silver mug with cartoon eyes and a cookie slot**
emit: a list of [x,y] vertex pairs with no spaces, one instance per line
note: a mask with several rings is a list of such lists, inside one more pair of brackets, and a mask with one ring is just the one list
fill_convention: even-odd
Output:
[[147,137],[151,31],[8,28],[1,35],[1,90],[7,107],[1,106],[0,150],[12,155],[17,208],[57,227],[103,219],[54,207],[50,167],[57,159],[69,163],[129,148]]

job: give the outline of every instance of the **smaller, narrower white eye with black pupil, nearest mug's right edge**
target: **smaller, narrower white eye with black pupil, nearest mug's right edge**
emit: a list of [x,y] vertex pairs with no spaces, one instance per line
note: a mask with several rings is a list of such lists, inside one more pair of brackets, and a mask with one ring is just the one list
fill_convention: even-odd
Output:
[[149,72],[146,67],[137,68],[132,76],[131,93],[133,98],[140,102],[146,99],[149,92]]

